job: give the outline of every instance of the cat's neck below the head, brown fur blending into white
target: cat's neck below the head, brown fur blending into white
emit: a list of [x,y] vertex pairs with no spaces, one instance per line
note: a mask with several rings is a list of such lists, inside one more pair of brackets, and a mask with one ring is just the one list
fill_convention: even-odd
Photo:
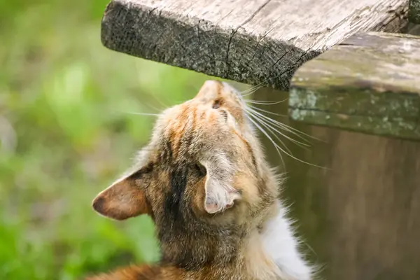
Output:
[[[203,273],[205,279],[213,279],[211,274],[214,279],[221,274],[226,279],[238,280],[311,279],[311,269],[297,251],[298,242],[279,201],[269,208],[267,219],[258,227],[206,237],[203,243],[193,240],[200,238],[197,233],[179,239],[186,244],[185,251],[174,252],[170,246],[162,244],[167,248],[162,252],[164,260],[168,256],[171,258],[167,260],[168,265],[190,271],[195,277]],[[191,247],[191,244],[195,245]]]

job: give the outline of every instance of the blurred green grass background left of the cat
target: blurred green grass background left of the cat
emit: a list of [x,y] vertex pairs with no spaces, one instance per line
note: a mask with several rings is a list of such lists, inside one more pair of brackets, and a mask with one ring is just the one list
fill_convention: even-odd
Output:
[[0,2],[0,279],[80,279],[158,258],[148,217],[91,209],[164,106],[208,77],[107,50],[107,0]]

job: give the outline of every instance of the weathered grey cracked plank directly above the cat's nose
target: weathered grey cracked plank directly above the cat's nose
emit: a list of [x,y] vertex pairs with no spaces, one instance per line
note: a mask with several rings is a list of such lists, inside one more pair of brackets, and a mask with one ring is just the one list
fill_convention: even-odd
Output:
[[295,69],[356,31],[395,31],[408,0],[113,0],[112,50],[287,89]]

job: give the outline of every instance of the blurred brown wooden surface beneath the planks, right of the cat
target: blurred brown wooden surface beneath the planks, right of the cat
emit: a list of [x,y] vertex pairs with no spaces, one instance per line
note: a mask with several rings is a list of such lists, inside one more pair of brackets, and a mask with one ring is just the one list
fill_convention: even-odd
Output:
[[[255,100],[286,99],[287,92],[260,89]],[[287,102],[264,109],[287,115]],[[271,116],[270,116],[271,117]],[[322,141],[305,151],[287,144],[283,197],[293,204],[305,251],[325,265],[322,276],[339,280],[420,279],[420,145],[276,117]],[[281,160],[264,139],[272,165]]]

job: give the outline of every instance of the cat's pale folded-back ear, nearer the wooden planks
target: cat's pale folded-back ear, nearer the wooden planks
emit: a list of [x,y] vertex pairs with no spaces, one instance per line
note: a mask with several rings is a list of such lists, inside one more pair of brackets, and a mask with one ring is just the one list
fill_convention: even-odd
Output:
[[233,206],[241,194],[233,187],[235,170],[223,154],[214,154],[203,160],[207,179],[204,186],[204,210],[209,214],[223,212]]

